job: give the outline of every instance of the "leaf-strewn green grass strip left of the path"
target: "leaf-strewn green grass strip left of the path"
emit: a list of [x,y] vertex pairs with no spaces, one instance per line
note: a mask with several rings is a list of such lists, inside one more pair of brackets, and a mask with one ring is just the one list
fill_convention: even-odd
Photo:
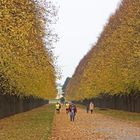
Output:
[[0,140],[48,140],[54,105],[45,105],[0,120]]

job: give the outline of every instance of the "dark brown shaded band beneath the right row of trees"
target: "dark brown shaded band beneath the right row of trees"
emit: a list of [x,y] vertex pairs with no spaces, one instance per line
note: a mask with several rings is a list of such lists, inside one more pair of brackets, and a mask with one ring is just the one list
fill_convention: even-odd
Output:
[[125,110],[130,112],[140,112],[140,95],[129,94],[129,95],[108,95],[102,94],[98,98],[85,99],[83,104],[87,105],[90,101],[93,101],[96,107],[110,108]]

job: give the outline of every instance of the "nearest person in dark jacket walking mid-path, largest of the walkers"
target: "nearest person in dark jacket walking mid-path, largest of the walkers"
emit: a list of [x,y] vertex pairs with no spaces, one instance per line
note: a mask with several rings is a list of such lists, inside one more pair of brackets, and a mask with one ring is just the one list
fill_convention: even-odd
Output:
[[69,113],[70,113],[70,121],[74,122],[75,115],[77,113],[77,107],[74,103],[70,104]]

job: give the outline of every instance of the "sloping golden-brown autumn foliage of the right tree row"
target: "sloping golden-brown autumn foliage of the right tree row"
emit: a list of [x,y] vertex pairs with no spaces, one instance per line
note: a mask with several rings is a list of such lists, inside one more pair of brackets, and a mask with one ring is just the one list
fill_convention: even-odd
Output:
[[81,60],[67,87],[68,98],[140,92],[140,1],[123,0],[98,42]]

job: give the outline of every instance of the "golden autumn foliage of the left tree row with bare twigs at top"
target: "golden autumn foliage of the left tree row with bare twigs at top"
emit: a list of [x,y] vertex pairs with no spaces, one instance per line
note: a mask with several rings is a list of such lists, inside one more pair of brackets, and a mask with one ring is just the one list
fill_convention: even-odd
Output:
[[46,48],[52,41],[47,26],[51,22],[49,17],[55,14],[50,3],[48,9],[42,3],[34,0],[0,1],[2,94],[55,97],[54,58],[50,47]]

